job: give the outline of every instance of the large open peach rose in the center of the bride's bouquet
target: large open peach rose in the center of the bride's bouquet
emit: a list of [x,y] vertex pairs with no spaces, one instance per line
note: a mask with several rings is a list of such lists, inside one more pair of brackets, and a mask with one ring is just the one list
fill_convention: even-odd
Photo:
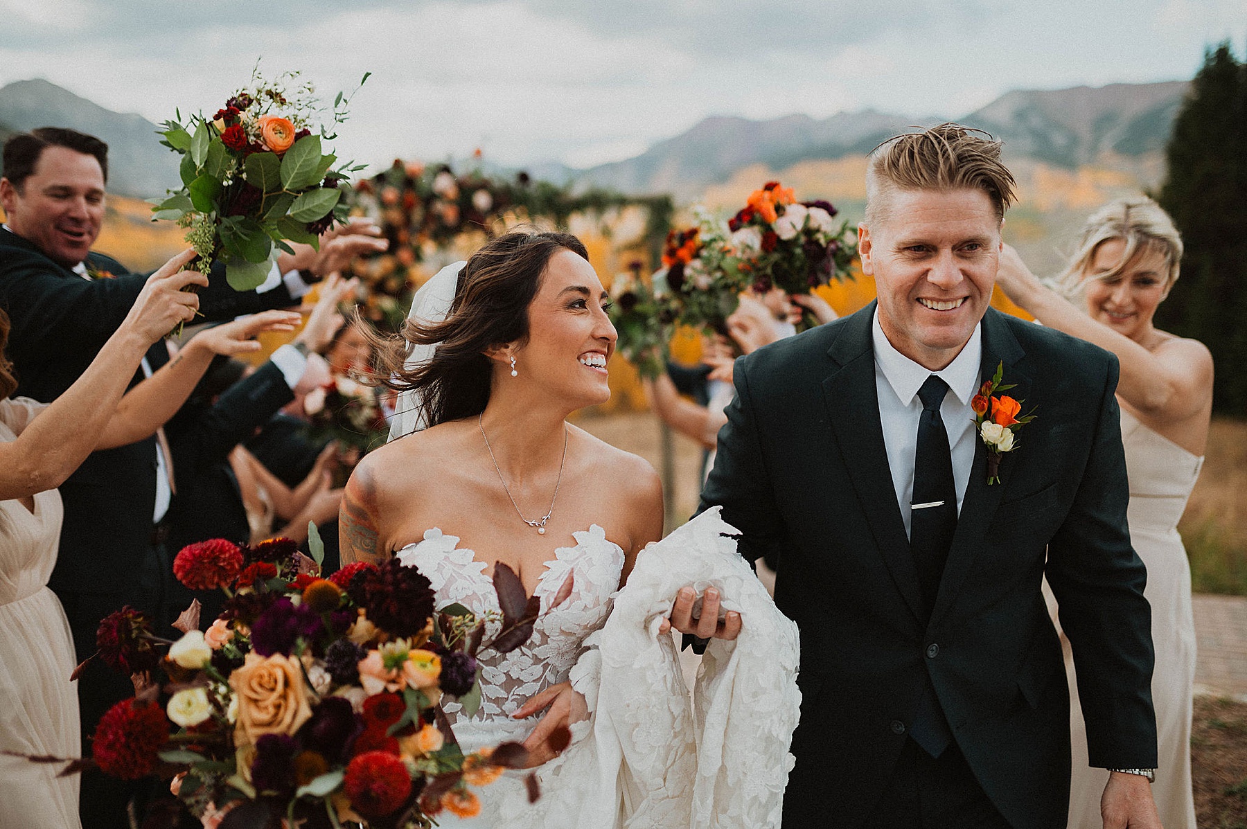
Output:
[[303,666],[294,657],[248,653],[229,674],[229,687],[238,699],[238,744],[253,745],[263,734],[293,734],[312,717]]

